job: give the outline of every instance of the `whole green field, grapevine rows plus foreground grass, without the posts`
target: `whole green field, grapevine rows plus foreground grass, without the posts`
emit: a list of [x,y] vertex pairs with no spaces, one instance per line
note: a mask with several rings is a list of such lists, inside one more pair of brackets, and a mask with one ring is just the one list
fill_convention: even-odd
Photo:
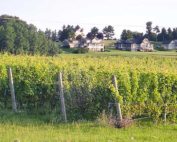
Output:
[[[0,142],[177,141],[177,52],[112,49],[56,57],[0,57]],[[18,114],[9,111],[8,67],[13,71]],[[60,71],[67,124],[58,123],[55,82]],[[112,75],[117,76],[119,94],[112,89]],[[109,113],[108,103],[115,99],[121,102],[123,116],[136,118],[146,113],[150,121],[123,129],[97,123],[99,114]],[[168,104],[166,125],[161,123],[164,103]]]

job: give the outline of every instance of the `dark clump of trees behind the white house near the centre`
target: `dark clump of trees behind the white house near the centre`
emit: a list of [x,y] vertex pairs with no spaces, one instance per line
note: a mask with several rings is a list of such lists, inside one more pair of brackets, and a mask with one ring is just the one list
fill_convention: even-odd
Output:
[[45,35],[48,39],[53,41],[61,41],[64,40],[80,40],[82,38],[87,38],[89,40],[93,40],[94,38],[98,39],[112,39],[114,36],[114,28],[111,25],[104,27],[101,31],[97,27],[91,28],[90,32],[86,35],[84,34],[83,28],[79,25],[63,25],[61,30],[45,30]]

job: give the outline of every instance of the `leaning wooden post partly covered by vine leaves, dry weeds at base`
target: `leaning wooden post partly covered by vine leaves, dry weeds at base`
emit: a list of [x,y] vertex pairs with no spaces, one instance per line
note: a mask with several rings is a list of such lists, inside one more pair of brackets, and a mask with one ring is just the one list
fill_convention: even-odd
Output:
[[[113,77],[112,77],[112,83],[113,83],[116,91],[118,91],[117,78],[115,75],[113,75]],[[122,112],[121,112],[121,108],[120,108],[120,103],[119,102],[115,102],[115,103],[116,103],[117,118],[119,121],[122,121]]]

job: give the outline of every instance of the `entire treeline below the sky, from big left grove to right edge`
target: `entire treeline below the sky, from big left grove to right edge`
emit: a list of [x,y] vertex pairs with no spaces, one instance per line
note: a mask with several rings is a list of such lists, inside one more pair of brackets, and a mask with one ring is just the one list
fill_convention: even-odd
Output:
[[[113,39],[114,35],[114,27],[111,25],[102,30],[93,27],[86,35],[79,25],[64,25],[61,30],[46,29],[43,32],[18,17],[0,16],[1,53],[53,56],[61,51],[59,42],[65,40],[86,42],[86,39],[93,40],[94,38],[109,40]],[[120,37],[121,40],[134,39],[136,41],[141,41],[143,38],[156,42],[170,42],[177,39],[177,28],[160,30],[159,26],[153,27],[152,22],[147,22],[146,33],[123,30]]]

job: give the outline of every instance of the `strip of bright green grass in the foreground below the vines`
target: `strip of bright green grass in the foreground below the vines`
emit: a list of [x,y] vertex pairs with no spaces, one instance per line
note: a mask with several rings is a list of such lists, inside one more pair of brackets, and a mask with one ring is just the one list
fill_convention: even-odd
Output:
[[[9,118],[8,118],[9,117]],[[0,142],[176,142],[177,125],[137,122],[117,129],[96,122],[45,123],[27,115],[0,117]],[[6,120],[5,120],[6,119]]]

